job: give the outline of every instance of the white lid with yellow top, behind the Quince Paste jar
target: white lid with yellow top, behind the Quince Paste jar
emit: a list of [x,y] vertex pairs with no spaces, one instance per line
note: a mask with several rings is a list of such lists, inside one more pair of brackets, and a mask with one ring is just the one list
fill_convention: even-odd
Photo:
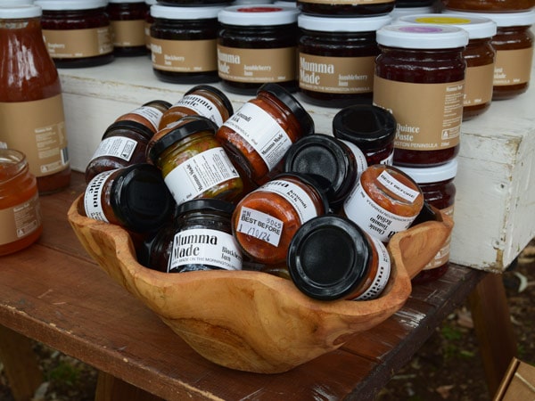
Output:
[[445,15],[445,14],[415,14],[399,17],[394,24],[433,24],[454,25],[465,29],[470,39],[481,39],[496,35],[496,22],[481,16]]

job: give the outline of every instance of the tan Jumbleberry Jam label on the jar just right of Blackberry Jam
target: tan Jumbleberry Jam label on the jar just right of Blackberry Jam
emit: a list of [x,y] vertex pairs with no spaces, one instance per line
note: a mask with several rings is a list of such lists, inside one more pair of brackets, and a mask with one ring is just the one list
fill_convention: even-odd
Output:
[[253,84],[296,80],[297,47],[235,48],[218,45],[219,78]]

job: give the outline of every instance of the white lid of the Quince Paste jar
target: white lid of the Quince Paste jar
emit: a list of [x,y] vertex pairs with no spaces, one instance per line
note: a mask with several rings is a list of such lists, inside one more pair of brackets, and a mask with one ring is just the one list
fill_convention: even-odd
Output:
[[468,32],[451,25],[386,25],[377,30],[379,45],[403,49],[451,49],[468,44]]

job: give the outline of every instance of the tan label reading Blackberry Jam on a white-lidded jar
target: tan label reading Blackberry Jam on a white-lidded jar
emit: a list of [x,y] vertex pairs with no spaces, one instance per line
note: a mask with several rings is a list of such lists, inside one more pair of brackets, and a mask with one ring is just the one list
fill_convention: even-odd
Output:
[[217,71],[217,40],[165,40],[152,37],[152,67],[174,72]]

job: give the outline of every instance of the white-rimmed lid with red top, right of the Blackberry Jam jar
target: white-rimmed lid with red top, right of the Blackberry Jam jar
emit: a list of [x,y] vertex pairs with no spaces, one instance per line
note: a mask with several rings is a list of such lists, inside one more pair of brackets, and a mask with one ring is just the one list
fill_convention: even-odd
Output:
[[219,12],[219,22],[227,25],[270,26],[297,22],[300,11],[290,5],[231,5]]

